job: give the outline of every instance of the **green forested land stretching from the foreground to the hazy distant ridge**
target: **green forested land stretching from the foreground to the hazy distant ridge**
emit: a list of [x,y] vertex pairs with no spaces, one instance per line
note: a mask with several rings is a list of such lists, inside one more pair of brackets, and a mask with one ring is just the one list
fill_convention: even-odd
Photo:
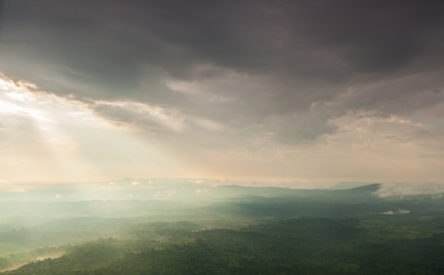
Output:
[[[195,187],[183,188],[172,194]],[[0,270],[443,274],[444,197],[384,198],[380,188],[224,185],[200,189],[206,199],[0,202]]]

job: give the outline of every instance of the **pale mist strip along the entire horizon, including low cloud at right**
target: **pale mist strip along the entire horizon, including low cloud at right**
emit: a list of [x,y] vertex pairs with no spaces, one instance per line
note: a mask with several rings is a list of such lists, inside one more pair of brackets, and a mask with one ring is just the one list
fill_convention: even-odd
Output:
[[[0,189],[0,201],[91,201],[91,200],[162,200],[211,201],[243,197],[319,197],[338,194],[372,182],[341,182],[326,189],[294,189],[288,187],[252,187],[235,182],[217,182],[192,179],[138,179],[125,178],[113,182],[84,184],[17,184],[14,188]],[[377,183],[374,195],[380,198],[433,196],[444,194],[444,185],[427,182]]]

